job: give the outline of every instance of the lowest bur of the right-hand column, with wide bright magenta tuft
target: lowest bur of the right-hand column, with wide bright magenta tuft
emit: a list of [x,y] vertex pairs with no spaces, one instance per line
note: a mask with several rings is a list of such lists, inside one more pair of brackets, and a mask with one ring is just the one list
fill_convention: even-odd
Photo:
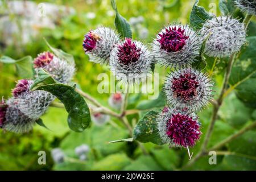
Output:
[[167,109],[158,117],[158,130],[163,143],[177,147],[193,147],[200,139],[200,123],[195,114]]

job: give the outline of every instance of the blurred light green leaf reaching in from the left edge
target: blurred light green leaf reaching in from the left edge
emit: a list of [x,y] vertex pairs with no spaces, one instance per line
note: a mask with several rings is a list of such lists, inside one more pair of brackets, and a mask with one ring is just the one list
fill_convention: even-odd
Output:
[[34,77],[31,56],[25,56],[25,57],[22,57],[22,59],[18,59],[18,60],[14,60],[8,56],[2,56],[0,58],[0,62],[6,63],[6,64],[15,64],[16,71],[18,72],[19,77],[22,77],[22,78]]

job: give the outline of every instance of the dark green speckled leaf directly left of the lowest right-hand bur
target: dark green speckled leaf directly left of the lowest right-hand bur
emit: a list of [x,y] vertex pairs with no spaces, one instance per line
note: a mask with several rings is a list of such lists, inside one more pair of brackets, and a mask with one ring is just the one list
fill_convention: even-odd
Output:
[[157,116],[158,112],[154,110],[148,111],[134,127],[133,139],[143,143],[163,144],[158,133]]

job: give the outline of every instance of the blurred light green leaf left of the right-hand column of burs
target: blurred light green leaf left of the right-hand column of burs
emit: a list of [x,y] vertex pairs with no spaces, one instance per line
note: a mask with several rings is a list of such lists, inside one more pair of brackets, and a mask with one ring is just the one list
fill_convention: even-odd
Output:
[[143,101],[138,103],[136,108],[139,109],[139,110],[148,110],[148,109],[163,107],[165,105],[166,105],[166,97],[164,95],[163,90],[161,90],[157,99],[155,99],[155,100],[143,100]]

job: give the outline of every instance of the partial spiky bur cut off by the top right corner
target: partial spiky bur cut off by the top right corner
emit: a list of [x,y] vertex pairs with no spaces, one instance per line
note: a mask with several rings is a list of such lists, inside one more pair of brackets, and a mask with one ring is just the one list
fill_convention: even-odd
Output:
[[255,0],[236,0],[235,1],[238,8],[243,12],[250,15],[256,15],[256,1]]

